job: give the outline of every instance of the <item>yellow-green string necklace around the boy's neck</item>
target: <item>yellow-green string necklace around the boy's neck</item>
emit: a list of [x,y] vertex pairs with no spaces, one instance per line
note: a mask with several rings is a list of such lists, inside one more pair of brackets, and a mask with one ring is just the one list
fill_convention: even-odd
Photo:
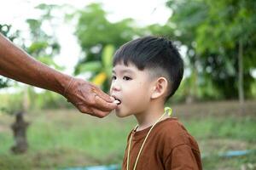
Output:
[[[135,161],[133,170],[135,170],[136,167],[137,167],[137,161],[138,161],[138,159],[139,159],[139,156],[140,156],[141,153],[142,153],[143,146],[144,146],[144,144],[146,143],[146,140],[148,139],[149,133],[152,131],[152,129],[154,128],[154,126],[155,126],[158,122],[160,122],[160,120],[166,115],[166,113],[168,114],[168,116],[171,116],[171,115],[172,115],[172,109],[171,109],[170,107],[166,107],[164,114],[163,114],[162,116],[160,116],[160,118],[159,118],[156,122],[154,122],[154,124],[153,124],[152,127],[150,127],[150,129],[149,129],[149,131],[148,131],[148,133],[147,133],[147,135],[146,135],[146,138],[145,138],[144,141],[143,141],[143,144],[142,144],[142,146],[141,146],[141,149],[139,150],[139,153],[137,154],[137,159],[136,159],[136,161]],[[136,131],[137,127],[138,127],[138,125],[134,128],[133,131]],[[127,164],[127,165],[126,165],[127,168],[126,168],[126,170],[129,170],[130,150],[131,150],[131,139],[132,139],[132,137],[133,137],[133,133],[131,133],[131,137],[130,137],[130,139],[129,139],[128,155],[127,155],[127,163],[126,163],[126,164]]]

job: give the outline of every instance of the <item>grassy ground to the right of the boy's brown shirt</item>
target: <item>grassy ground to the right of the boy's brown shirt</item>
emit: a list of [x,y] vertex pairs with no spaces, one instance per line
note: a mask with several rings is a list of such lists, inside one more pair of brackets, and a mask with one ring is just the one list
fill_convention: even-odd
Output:
[[[197,139],[204,169],[256,169],[256,117],[201,117],[184,121]],[[246,156],[222,157],[229,150],[255,150]]]

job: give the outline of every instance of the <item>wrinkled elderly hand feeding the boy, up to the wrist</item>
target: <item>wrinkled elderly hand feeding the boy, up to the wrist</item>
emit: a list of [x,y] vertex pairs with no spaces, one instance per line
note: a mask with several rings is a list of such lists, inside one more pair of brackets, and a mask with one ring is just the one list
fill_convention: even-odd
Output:
[[90,82],[79,78],[71,78],[63,95],[79,111],[91,116],[107,116],[117,107],[117,104],[113,103],[114,99],[112,97],[104,94],[100,88]]

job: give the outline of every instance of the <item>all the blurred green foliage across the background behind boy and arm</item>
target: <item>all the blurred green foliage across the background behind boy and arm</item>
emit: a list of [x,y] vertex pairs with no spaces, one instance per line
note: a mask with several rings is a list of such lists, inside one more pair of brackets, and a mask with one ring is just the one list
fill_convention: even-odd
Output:
[[[108,92],[114,51],[125,42],[145,35],[169,37],[184,49],[186,77],[172,101],[210,99],[236,99],[238,96],[238,42],[242,42],[244,60],[244,90],[246,99],[256,96],[256,8],[254,1],[170,0],[166,6],[172,16],[165,25],[153,24],[139,27],[135,20],[126,18],[111,22],[101,3],[91,3],[83,9],[74,9],[69,20],[77,19],[75,36],[83,51],[74,74],[90,72],[90,81]],[[55,37],[55,12],[61,6],[40,4],[41,15],[27,19],[30,36],[19,37],[20,31],[11,26],[0,25],[0,31],[11,41],[15,38],[28,54],[46,65],[61,70],[53,59],[60,53],[60,44]],[[75,11],[74,11],[75,10]],[[69,11],[69,10],[67,10]],[[64,11],[67,13],[66,11]],[[70,12],[70,11],[69,11]],[[50,29],[44,31],[44,26]],[[22,32],[21,32],[22,33]],[[0,88],[9,80],[0,78]],[[36,94],[28,89],[32,107],[69,107],[57,94]],[[21,95],[21,94],[20,94]]]

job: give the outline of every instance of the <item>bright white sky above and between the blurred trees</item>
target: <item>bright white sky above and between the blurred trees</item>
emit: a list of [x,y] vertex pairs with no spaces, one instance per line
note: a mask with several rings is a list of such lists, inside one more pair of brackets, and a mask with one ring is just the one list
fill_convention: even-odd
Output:
[[[22,36],[26,37],[29,32],[25,20],[36,19],[39,16],[38,9],[35,7],[40,3],[69,4],[75,8],[84,8],[90,3],[102,3],[103,8],[109,13],[110,21],[133,18],[139,26],[154,23],[164,25],[172,14],[170,8],[166,8],[165,2],[166,0],[8,0],[1,3],[0,23],[12,25],[14,29],[23,31]],[[59,17],[62,15],[60,14]],[[60,23],[55,28],[56,37],[61,44],[61,53],[55,57],[55,62],[65,66],[67,69],[63,72],[67,74],[73,73],[73,67],[81,56],[79,44],[73,36],[74,26]]]

